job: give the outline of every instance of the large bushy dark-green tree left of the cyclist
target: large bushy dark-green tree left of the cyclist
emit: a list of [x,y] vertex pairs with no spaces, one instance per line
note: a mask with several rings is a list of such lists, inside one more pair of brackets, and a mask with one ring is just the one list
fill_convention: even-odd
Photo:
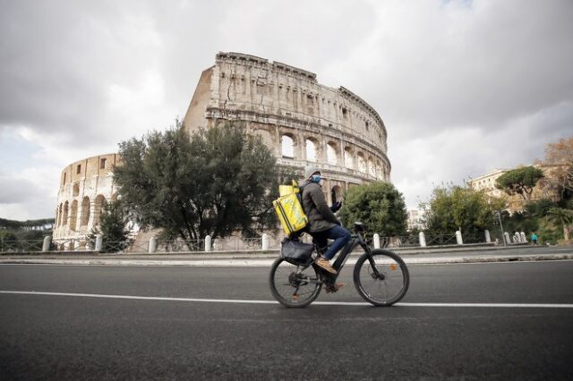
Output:
[[119,194],[142,228],[185,241],[239,231],[252,236],[276,224],[275,158],[244,125],[225,123],[192,136],[177,123],[120,143]]

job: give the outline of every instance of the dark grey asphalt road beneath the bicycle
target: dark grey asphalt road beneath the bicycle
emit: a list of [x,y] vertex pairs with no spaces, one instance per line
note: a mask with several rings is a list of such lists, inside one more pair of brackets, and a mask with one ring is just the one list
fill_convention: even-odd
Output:
[[[268,272],[4,265],[0,291],[271,301]],[[336,304],[362,301],[351,268],[343,291],[321,293],[330,304],[306,309],[0,293],[0,379],[573,378],[573,261],[410,273],[390,308]]]

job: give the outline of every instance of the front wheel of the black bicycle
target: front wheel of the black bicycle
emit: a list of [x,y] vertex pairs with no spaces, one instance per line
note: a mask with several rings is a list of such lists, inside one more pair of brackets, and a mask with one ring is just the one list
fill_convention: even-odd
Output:
[[391,306],[400,301],[410,284],[406,263],[389,250],[364,253],[355,265],[356,291],[375,306]]

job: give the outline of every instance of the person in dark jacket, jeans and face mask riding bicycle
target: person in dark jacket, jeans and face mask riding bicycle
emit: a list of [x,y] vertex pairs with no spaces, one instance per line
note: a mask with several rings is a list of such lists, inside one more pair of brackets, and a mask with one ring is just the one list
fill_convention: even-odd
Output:
[[[312,235],[315,243],[321,248],[321,255],[315,263],[327,270],[331,274],[337,274],[337,270],[330,266],[329,260],[332,259],[350,241],[350,232],[348,232],[338,221],[336,212],[341,206],[341,202],[334,202],[329,207],[322,193],[321,188],[321,171],[316,166],[307,166],[304,168],[303,183],[303,207],[304,213],[308,216],[308,232]],[[328,246],[328,239],[334,240]],[[344,284],[334,284],[334,290],[342,287]],[[328,291],[328,290],[327,290]]]

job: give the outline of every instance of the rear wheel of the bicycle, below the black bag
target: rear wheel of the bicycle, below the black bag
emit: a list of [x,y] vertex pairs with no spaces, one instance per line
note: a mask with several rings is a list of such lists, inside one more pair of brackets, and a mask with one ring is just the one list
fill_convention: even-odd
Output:
[[321,276],[312,266],[295,266],[278,258],[270,267],[270,292],[286,307],[306,307],[321,293]]

